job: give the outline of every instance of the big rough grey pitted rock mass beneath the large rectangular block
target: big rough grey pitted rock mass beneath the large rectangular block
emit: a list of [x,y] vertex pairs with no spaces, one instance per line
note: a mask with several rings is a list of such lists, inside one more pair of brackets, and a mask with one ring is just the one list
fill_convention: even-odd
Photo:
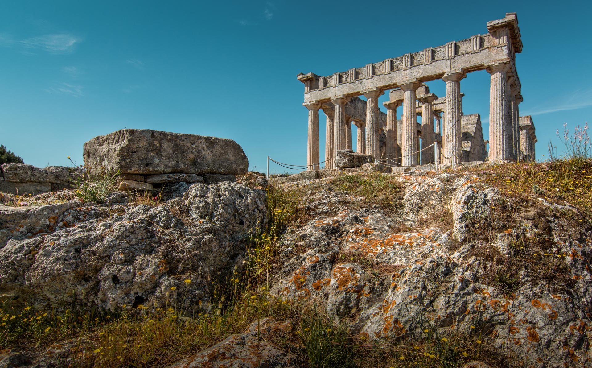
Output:
[[3,207],[0,291],[46,310],[207,310],[207,283],[266,223],[265,192],[238,183],[174,188],[155,207]]

